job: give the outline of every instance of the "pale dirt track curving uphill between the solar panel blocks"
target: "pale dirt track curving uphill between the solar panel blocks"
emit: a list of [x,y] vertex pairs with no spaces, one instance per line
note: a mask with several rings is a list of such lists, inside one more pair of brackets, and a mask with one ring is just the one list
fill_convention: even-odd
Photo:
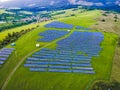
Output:
[[54,40],[53,42],[50,42],[49,44],[47,44],[47,45],[45,45],[45,46],[43,46],[43,47],[41,47],[41,48],[37,48],[37,49],[33,50],[32,52],[30,52],[29,54],[27,54],[25,57],[21,58],[21,59],[19,60],[20,62],[16,65],[16,67],[12,70],[12,72],[10,73],[10,75],[7,77],[7,79],[6,79],[6,81],[4,82],[1,90],[5,90],[5,88],[7,87],[8,83],[9,83],[9,81],[11,80],[12,76],[14,75],[14,73],[16,72],[16,70],[20,67],[20,65],[24,62],[24,60],[25,60],[27,57],[29,57],[29,56],[30,56],[31,54],[33,54],[34,52],[37,52],[37,51],[39,51],[39,50],[41,50],[41,49],[43,49],[43,48],[45,48],[45,47],[47,47],[47,46],[50,46],[50,45],[52,45],[52,44],[54,44],[54,43],[56,43],[56,42],[58,42],[58,41],[60,41],[60,40],[62,40],[62,39],[64,39],[64,38],[70,36],[73,32],[74,32],[74,29],[73,29],[69,34],[67,34],[67,35],[65,35],[65,36],[63,36],[63,37],[61,37],[61,38],[59,38],[59,39],[56,39],[56,40]]

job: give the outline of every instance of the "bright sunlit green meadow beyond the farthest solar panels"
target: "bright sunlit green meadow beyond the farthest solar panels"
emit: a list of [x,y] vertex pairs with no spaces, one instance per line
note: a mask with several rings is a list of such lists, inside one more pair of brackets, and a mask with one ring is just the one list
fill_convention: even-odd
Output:
[[75,26],[90,27],[91,25],[96,23],[96,21],[93,19],[99,16],[101,16],[100,11],[95,10],[95,11],[86,11],[81,14],[77,14],[76,16],[59,19],[59,20],[69,24],[73,24]]

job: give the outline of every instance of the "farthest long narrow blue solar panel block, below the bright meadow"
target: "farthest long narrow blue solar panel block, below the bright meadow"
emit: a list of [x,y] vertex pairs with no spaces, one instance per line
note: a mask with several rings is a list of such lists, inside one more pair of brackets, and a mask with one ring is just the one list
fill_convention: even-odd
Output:
[[54,21],[54,22],[46,24],[45,27],[47,27],[47,28],[66,28],[66,29],[72,29],[73,25],[66,24],[66,23],[63,23],[63,22]]

